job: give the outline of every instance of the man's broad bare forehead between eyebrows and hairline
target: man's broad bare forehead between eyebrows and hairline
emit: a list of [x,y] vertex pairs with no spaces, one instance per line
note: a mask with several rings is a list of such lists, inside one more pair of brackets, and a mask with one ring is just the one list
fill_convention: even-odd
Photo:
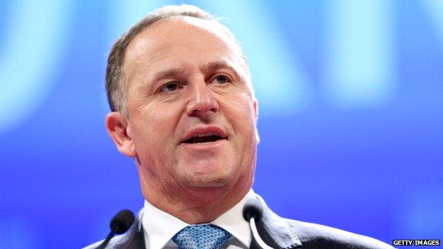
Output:
[[[128,45],[124,67],[148,70],[180,63],[208,60],[231,61],[241,67],[241,51],[234,39],[219,23],[189,16],[171,17],[145,28]],[[176,64],[176,65],[171,65]]]

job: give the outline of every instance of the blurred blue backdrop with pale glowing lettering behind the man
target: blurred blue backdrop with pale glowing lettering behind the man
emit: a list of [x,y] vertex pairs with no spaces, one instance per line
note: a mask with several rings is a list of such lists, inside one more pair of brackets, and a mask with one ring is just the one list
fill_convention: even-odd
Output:
[[104,128],[104,71],[114,40],[166,4],[226,17],[243,45],[253,189],[276,213],[442,239],[442,1],[1,0],[1,248],[81,248],[142,207]]

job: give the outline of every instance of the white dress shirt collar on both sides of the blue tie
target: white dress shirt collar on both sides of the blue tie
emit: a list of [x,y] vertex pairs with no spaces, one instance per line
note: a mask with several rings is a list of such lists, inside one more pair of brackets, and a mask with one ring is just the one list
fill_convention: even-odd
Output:
[[[249,190],[238,204],[208,223],[231,233],[232,237],[222,247],[223,249],[246,249],[251,245],[251,230],[249,223],[243,218],[243,207],[248,199],[255,198],[256,194],[252,189]],[[190,226],[185,221],[155,208],[148,201],[145,201],[143,206],[141,223],[146,249],[177,249],[177,244],[171,238],[186,226]]]

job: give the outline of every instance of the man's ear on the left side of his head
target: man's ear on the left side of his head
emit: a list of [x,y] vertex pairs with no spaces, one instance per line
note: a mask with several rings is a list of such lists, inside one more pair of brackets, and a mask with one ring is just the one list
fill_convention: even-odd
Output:
[[133,145],[132,138],[127,132],[127,119],[119,111],[113,111],[106,115],[105,124],[109,136],[111,136],[112,140],[114,140],[114,143],[120,153],[128,157],[135,157],[136,149]]

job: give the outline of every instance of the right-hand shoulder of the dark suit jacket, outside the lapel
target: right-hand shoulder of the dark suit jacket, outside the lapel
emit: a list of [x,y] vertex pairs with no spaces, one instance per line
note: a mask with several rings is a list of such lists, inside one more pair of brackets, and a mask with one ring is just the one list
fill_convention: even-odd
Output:
[[302,248],[359,248],[359,249],[393,249],[392,246],[371,238],[350,233],[337,228],[315,223],[294,221],[285,218],[295,236],[302,243]]

